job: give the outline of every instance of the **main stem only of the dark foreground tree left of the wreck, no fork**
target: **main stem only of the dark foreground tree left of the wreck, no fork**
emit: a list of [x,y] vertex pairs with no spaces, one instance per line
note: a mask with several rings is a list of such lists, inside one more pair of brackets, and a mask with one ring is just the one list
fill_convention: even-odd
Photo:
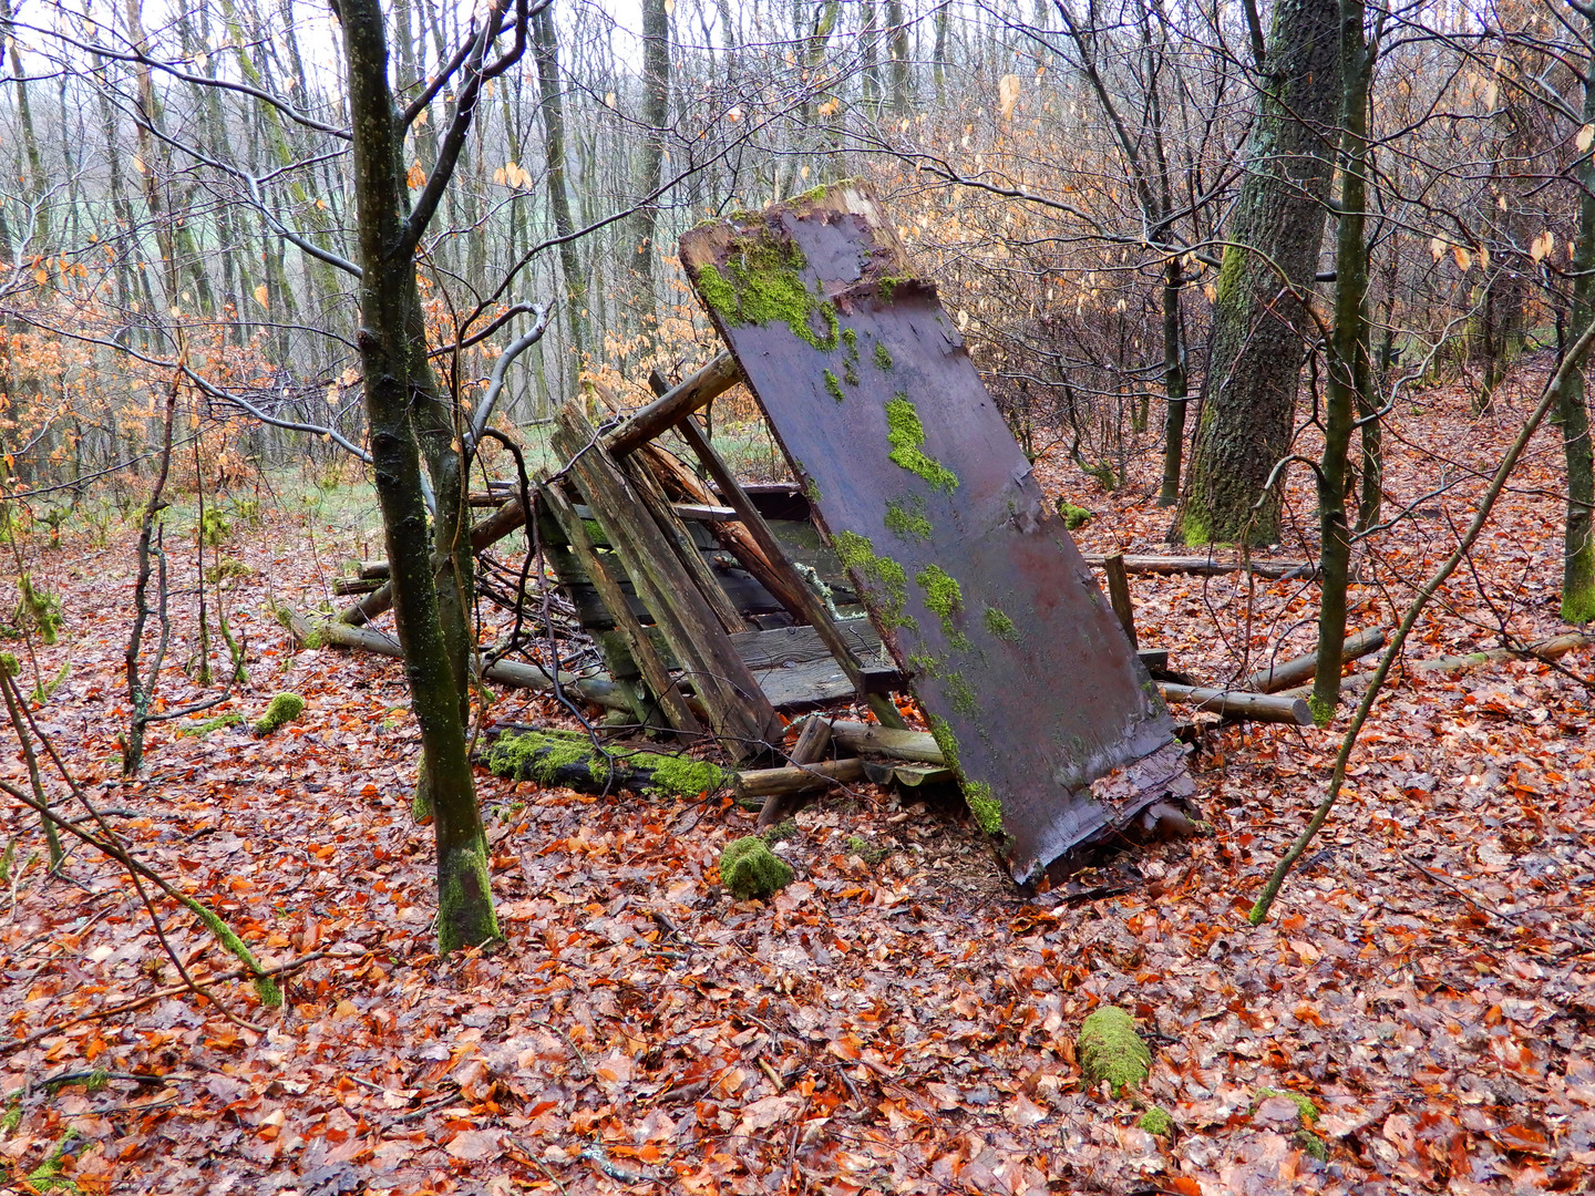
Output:
[[[450,651],[456,646],[450,644],[439,612],[421,493],[421,450],[410,419],[412,410],[439,403],[424,367],[426,344],[416,341],[421,311],[415,260],[404,239],[402,129],[388,86],[383,11],[378,0],[343,0],[341,16],[364,269],[359,344],[365,410],[394,577],[394,617],[435,812],[439,950],[450,952],[496,938],[498,922],[488,887],[486,839],[466,754],[467,678],[451,659],[458,657]],[[458,478],[458,454],[455,461]],[[453,490],[459,502],[458,480]],[[439,531],[445,533],[448,494],[439,491],[437,499]],[[469,560],[469,552],[458,555]]]

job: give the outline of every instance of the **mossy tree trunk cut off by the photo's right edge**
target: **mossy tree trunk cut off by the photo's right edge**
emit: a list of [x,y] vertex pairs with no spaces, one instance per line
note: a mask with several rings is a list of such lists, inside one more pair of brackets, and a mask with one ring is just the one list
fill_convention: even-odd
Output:
[[[1589,16],[1595,32],[1595,14]],[[1584,123],[1595,121],[1595,54],[1585,67]],[[1595,163],[1585,153],[1577,164],[1579,233],[1573,247],[1573,311],[1568,335],[1576,338],[1595,316]],[[1584,394],[1584,362],[1557,391],[1557,423],[1568,464],[1568,523],[1562,555],[1562,617],[1569,624],[1595,619],[1595,541],[1590,510],[1595,507],[1595,459],[1590,454],[1590,410]]]

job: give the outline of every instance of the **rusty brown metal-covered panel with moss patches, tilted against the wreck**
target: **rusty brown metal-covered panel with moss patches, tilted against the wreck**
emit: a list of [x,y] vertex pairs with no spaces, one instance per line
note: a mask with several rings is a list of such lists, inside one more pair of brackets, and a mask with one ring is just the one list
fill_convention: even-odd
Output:
[[681,262],[1014,879],[1188,794],[1147,670],[868,188],[700,225]]

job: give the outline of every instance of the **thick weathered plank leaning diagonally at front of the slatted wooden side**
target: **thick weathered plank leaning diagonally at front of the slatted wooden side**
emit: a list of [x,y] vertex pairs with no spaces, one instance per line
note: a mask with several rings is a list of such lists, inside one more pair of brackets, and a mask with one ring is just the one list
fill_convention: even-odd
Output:
[[[654,517],[595,443],[592,424],[573,405],[555,415],[553,448],[593,509],[638,596],[654,612],[676,660],[708,710],[710,726],[734,759],[780,742],[780,719],[742,663],[719,619],[692,584]],[[585,451],[584,451],[585,450]]]

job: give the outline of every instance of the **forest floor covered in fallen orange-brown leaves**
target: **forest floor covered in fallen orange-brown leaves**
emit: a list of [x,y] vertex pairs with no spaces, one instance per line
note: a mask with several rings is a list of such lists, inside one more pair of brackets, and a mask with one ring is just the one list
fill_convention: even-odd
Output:
[[[1536,380],[1530,380],[1533,383]],[[1389,513],[1353,624],[1394,622],[1443,558],[1533,395],[1474,419],[1453,389],[1391,416]],[[1557,619],[1560,445],[1533,458],[1410,655],[1531,641]],[[1086,550],[1166,550],[1155,461],[1115,496],[1043,462],[1096,518]],[[1305,478],[1298,485],[1305,483]],[[1447,486],[1442,493],[1431,494]],[[1305,490],[1294,518],[1311,521]],[[418,734],[400,668],[297,651],[270,612],[321,603],[373,555],[375,515],[234,521],[225,593],[250,683],[152,729],[120,780],[136,525],[45,528],[24,547],[70,671],[35,718],[137,855],[271,965],[185,992],[110,861],[43,872],[37,818],[0,885],[0,1156],[11,1185],[126,1193],[1506,1193],[1595,1174],[1595,740],[1587,654],[1459,676],[1399,673],[1353,785],[1273,919],[1246,911],[1322,794],[1338,729],[1212,729],[1193,757],[1212,834],[1105,860],[1026,896],[960,810],[863,788],[783,840],[798,880],[737,903],[716,858],[753,815],[719,794],[608,799],[480,775],[507,942],[432,950],[431,829],[410,820]],[[1311,537],[1308,536],[1308,541]],[[163,700],[201,695],[190,549],[174,553]],[[1309,544],[1306,545],[1309,547]],[[1300,557],[1303,544],[1284,544]],[[187,560],[179,560],[187,557]],[[1311,643],[1302,582],[1132,579],[1144,646],[1204,681]],[[220,644],[214,644],[220,652]],[[220,660],[217,662],[220,663]],[[1359,670],[1367,671],[1364,662]],[[26,687],[33,668],[24,654]],[[271,694],[308,700],[265,738],[183,734]],[[211,690],[219,692],[217,687]],[[550,718],[504,694],[490,722]],[[1343,719],[1341,719],[1343,722]],[[14,748],[0,772],[26,785]],[[46,778],[62,810],[59,781]],[[861,855],[852,837],[869,844]],[[171,903],[206,978],[236,962]],[[1155,1048],[1137,1099],[1085,1091],[1097,1005]],[[1266,1089],[1306,1097],[1316,1121]],[[1174,1132],[1139,1129],[1137,1104]],[[1309,1129],[1316,1137],[1303,1137]],[[1327,1161],[1309,1147],[1322,1143]]]

